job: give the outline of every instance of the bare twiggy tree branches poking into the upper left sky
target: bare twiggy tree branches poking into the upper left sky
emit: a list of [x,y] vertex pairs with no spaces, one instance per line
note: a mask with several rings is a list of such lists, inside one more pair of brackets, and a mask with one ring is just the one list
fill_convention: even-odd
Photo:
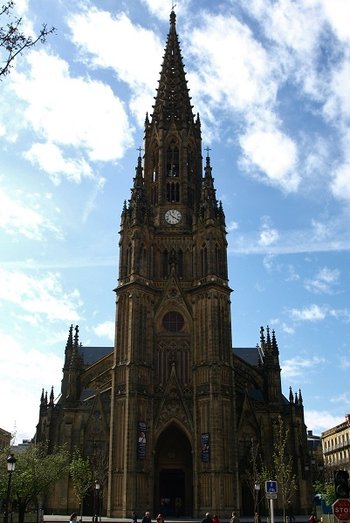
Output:
[[0,79],[10,72],[18,55],[38,42],[44,43],[46,37],[55,31],[54,27],[48,28],[47,24],[42,24],[39,33],[27,36],[22,31],[22,18],[13,14],[14,7],[13,0],[8,0],[0,7],[1,21],[7,20],[7,23],[0,25]]

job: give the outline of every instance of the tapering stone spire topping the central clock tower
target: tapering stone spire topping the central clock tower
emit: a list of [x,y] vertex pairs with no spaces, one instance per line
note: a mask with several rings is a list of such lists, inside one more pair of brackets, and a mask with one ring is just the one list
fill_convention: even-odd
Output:
[[167,127],[172,120],[184,125],[194,122],[174,11],[170,14],[170,29],[157,91],[152,123]]

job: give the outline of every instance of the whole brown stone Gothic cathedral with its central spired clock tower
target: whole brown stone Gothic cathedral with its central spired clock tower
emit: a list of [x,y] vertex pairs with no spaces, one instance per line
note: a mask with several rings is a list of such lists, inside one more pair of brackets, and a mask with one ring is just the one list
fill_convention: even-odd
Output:
[[[101,515],[224,519],[254,513],[252,448],[271,463],[281,417],[294,511],[306,513],[303,400],[282,393],[274,331],[260,328],[254,348],[232,348],[225,215],[192,109],[172,11],[144,154],[121,210],[115,346],[85,347],[71,326],[61,391],[57,400],[43,391],[36,441],[89,457]],[[76,510],[68,477],[46,510]]]

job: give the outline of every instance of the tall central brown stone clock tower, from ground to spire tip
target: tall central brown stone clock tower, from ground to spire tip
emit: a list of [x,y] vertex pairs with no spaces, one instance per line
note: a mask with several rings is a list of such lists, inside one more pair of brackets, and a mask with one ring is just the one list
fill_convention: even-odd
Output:
[[[143,161],[142,161],[143,160]],[[225,218],[176,17],[121,216],[109,515],[199,516],[237,500]]]

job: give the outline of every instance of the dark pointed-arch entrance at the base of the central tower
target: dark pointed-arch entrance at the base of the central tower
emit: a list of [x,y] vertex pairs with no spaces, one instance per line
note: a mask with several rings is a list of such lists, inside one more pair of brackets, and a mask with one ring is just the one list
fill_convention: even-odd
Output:
[[165,516],[192,516],[192,449],[175,424],[159,436],[154,458],[154,507]]

